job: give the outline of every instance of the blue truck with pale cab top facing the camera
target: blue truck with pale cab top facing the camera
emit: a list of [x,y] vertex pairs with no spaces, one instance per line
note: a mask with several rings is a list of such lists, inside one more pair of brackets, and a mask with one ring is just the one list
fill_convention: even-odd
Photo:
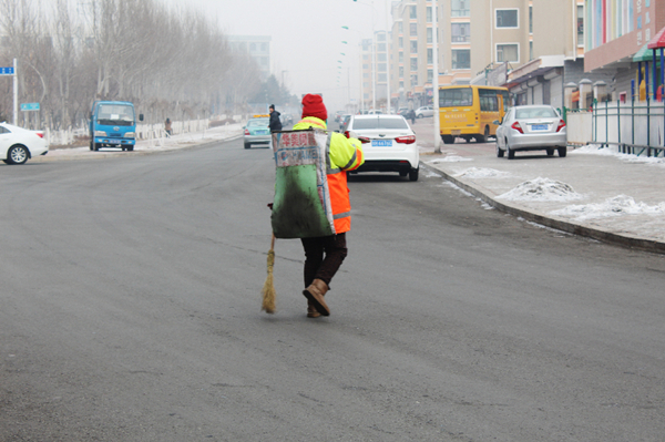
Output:
[[[143,121],[143,114],[139,115]],[[136,144],[136,112],[129,101],[95,101],[90,112],[90,150],[120,147],[133,151]]]

